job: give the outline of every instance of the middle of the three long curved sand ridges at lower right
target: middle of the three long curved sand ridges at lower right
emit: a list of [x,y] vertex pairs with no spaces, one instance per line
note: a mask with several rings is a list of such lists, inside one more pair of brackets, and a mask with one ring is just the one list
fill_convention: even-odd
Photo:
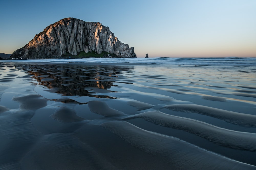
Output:
[[256,151],[256,134],[254,133],[224,129],[198,120],[168,115],[160,111],[144,112],[125,119],[134,118],[142,118],[160,126],[184,130],[221,146]]

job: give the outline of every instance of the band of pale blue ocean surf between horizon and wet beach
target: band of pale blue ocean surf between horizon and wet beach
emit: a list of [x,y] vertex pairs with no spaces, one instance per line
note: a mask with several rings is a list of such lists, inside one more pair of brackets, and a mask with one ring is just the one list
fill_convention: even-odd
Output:
[[[13,60],[13,62],[35,62],[35,60]],[[164,65],[207,65],[207,66],[256,66],[256,58],[84,58],[84,59],[40,59],[36,62],[49,63],[131,63]]]

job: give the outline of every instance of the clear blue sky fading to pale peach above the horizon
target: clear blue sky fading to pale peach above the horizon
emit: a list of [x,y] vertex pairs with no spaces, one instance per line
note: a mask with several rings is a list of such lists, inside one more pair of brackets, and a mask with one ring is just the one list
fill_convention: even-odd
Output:
[[256,0],[9,0],[0,8],[0,53],[73,17],[108,26],[137,57],[256,57]]

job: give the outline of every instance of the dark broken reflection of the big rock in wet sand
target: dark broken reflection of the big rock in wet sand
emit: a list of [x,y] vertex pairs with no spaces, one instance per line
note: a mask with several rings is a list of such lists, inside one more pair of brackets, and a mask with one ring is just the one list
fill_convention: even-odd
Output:
[[[25,66],[24,66],[25,67]],[[99,93],[113,92],[108,90],[120,74],[120,71],[129,71],[130,68],[118,68],[114,66],[30,66],[27,68],[33,78],[47,88],[55,88],[56,93],[64,96],[89,96],[99,98],[114,98]],[[95,90],[102,89],[102,90]]]

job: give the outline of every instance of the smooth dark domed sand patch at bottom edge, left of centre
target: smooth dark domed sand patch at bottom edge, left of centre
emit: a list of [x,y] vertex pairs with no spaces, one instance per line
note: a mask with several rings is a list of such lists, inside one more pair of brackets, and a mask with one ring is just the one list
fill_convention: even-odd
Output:
[[46,135],[20,165],[22,169],[117,169],[101,153],[70,134]]

